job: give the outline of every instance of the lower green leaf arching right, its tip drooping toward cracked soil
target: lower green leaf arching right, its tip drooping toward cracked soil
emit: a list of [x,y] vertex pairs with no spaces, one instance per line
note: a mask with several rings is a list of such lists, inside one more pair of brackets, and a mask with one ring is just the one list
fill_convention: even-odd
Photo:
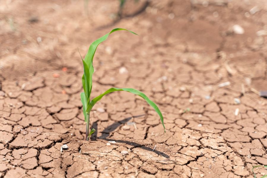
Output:
[[142,93],[141,91],[138,91],[138,90],[135,90],[133,88],[110,88],[108,89],[105,93],[97,96],[96,98],[93,98],[92,101],[89,103],[87,109],[86,109],[86,112],[87,113],[90,113],[91,109],[93,108],[93,106],[96,104],[97,101],[101,100],[101,98],[109,93],[112,93],[114,91],[127,91],[127,92],[130,92],[130,93],[133,93],[135,95],[138,95],[138,96],[141,96],[142,98],[144,98],[147,103],[152,106],[155,111],[158,113],[158,115],[160,116],[160,120],[161,120],[161,123],[163,125],[163,128],[164,128],[164,132],[165,131],[165,126],[164,126],[164,123],[163,123],[163,116],[160,112],[160,110],[158,109],[158,106],[153,102],[151,101],[144,93]]

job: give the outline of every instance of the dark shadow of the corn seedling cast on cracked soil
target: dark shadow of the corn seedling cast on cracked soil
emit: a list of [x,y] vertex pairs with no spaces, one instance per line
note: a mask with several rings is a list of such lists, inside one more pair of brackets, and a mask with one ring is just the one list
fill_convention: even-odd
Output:
[[[138,115],[138,116],[134,116],[134,117],[141,117],[143,115]],[[138,143],[135,143],[135,142],[129,142],[129,141],[126,141],[126,140],[115,140],[115,139],[108,139],[107,137],[109,136],[109,133],[114,131],[116,128],[118,128],[121,124],[124,124],[124,123],[127,123],[132,117],[127,117],[121,121],[118,121],[118,122],[115,122],[113,123],[112,125],[109,125],[107,128],[105,128],[101,133],[101,136],[97,137],[97,131],[98,131],[98,123],[97,121],[93,123],[93,128],[95,128],[95,133],[91,135],[91,140],[96,140],[96,139],[102,139],[102,140],[106,140],[106,141],[115,141],[115,142],[118,142],[118,143],[125,143],[125,144],[128,144],[128,145],[132,145],[134,148],[142,148],[143,150],[147,150],[147,151],[152,151],[152,152],[155,152],[157,153],[158,155],[161,155],[165,158],[170,158],[169,155],[166,155],[165,153],[163,152],[160,152],[160,151],[157,151],[157,150],[154,150],[152,148],[149,148],[149,147],[146,147],[142,144],[138,144]]]

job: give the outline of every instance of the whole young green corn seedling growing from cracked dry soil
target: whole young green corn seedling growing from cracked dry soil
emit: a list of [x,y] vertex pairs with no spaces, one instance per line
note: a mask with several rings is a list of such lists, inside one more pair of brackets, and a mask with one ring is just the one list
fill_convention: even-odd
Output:
[[[89,50],[88,50],[87,54],[85,55],[85,58],[82,59],[83,69],[84,69],[84,74],[82,76],[82,87],[83,87],[84,92],[81,93],[81,101],[82,101],[82,106],[83,106],[84,120],[86,122],[86,140],[89,140],[90,135],[95,132],[94,128],[89,132],[90,111],[92,110],[93,106],[96,104],[97,101],[99,101],[103,96],[107,95],[108,93],[112,93],[114,91],[127,91],[127,92],[139,95],[142,98],[144,98],[145,101],[147,101],[147,103],[150,104],[150,106],[152,106],[155,109],[155,111],[158,113],[158,115],[160,116],[160,120],[161,120],[161,123],[163,125],[164,132],[165,132],[165,126],[163,124],[163,116],[162,116],[160,110],[158,109],[157,105],[153,101],[151,101],[141,91],[135,90],[133,88],[110,88],[107,91],[105,91],[103,94],[97,96],[96,98],[93,98],[92,100],[90,99],[90,95],[91,95],[91,91],[92,91],[92,77],[93,77],[93,73],[94,73],[93,58],[94,58],[94,55],[96,53],[96,48],[101,42],[103,42],[107,39],[109,34],[115,32],[115,31],[119,31],[119,30],[125,30],[128,32],[131,32],[132,34],[137,35],[136,33],[129,31],[127,29],[124,29],[124,28],[115,28],[112,31],[110,31],[108,34],[106,34],[106,35],[102,36],[101,38],[97,39],[96,41],[94,41],[90,45]],[[81,56],[81,58],[82,58],[82,56]]]

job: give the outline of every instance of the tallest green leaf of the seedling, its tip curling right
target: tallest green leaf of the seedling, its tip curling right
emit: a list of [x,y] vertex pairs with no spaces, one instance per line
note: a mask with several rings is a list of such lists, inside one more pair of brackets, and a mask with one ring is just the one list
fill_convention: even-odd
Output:
[[[90,45],[90,47],[89,47],[89,49],[88,49],[88,52],[87,52],[87,54],[85,55],[84,61],[85,61],[85,63],[87,64],[87,66],[89,67],[89,74],[90,74],[90,76],[87,76],[87,79],[85,79],[85,81],[88,80],[87,83],[90,84],[89,87],[88,87],[88,88],[89,88],[89,92],[86,93],[87,96],[88,96],[88,98],[89,98],[89,100],[90,100],[90,95],[91,95],[91,91],[92,91],[92,78],[93,78],[93,73],[94,73],[94,68],[93,68],[93,58],[94,58],[94,55],[95,55],[95,53],[96,53],[96,48],[98,47],[98,45],[99,45],[101,42],[104,42],[104,41],[108,38],[109,34],[112,34],[113,32],[115,32],[115,31],[119,31],[119,30],[129,31],[129,30],[124,29],[124,28],[114,28],[114,29],[113,29],[112,31],[110,31],[108,34],[106,34],[106,35],[102,36],[101,38],[98,38],[96,41],[94,41],[94,42]],[[129,32],[131,32],[132,34],[137,35],[136,33],[132,32],[132,31],[129,31]],[[84,76],[82,76],[82,77],[85,78]]]

